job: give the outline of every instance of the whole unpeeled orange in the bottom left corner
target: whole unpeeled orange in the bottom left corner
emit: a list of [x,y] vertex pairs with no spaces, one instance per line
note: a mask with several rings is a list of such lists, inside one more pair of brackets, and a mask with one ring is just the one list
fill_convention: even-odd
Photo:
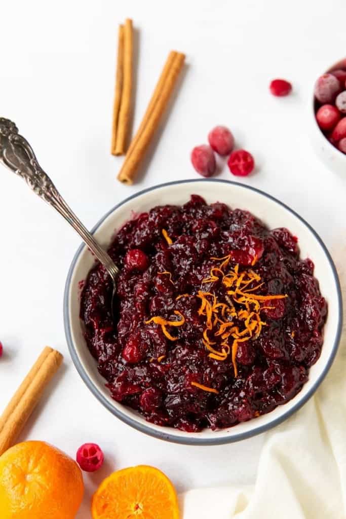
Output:
[[18,443],[0,457],[1,519],[74,519],[83,493],[77,463],[48,443]]

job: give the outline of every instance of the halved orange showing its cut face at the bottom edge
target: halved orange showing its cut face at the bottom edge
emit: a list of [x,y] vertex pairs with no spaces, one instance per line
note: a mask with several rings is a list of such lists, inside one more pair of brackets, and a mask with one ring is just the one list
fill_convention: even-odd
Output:
[[106,477],[92,498],[91,513],[93,519],[179,519],[173,484],[146,465]]

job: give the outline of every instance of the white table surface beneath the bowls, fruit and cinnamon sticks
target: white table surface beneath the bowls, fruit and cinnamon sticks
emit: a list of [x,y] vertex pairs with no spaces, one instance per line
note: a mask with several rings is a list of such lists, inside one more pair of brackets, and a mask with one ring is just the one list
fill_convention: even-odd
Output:
[[[117,25],[126,17],[139,40],[134,128],[169,50],[187,54],[173,108],[132,187],[116,180],[122,158],[109,154]],[[257,162],[256,173],[240,181],[289,204],[333,250],[344,238],[345,183],[314,155],[306,123],[315,77],[344,57],[345,19],[344,0],[2,0],[0,115],[16,121],[90,228],[144,187],[196,178],[192,147],[214,125],[227,125]],[[274,77],[291,80],[294,93],[273,98]],[[218,177],[234,180],[227,168]],[[102,407],[79,378],[64,335],[64,283],[79,237],[5,169],[0,220],[0,408],[45,345],[64,354],[22,439],[48,441],[73,457],[84,442],[102,446],[106,464],[86,475],[78,518],[89,517],[90,495],[105,475],[140,463],[161,468],[179,491],[253,483],[263,436],[174,445],[132,430]]]

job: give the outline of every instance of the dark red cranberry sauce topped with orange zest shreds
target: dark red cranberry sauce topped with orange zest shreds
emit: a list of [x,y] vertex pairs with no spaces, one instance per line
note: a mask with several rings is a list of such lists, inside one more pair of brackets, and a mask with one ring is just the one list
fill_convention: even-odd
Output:
[[192,195],[126,223],[115,320],[101,265],[80,317],[112,397],[161,426],[229,427],[292,399],[319,358],[327,305],[287,229]]

